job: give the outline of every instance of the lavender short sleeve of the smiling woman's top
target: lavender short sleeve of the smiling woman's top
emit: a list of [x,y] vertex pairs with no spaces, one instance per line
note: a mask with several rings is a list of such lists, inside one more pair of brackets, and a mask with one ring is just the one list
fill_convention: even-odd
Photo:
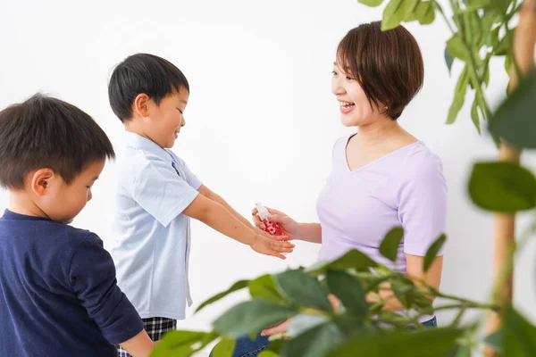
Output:
[[405,232],[404,252],[424,256],[447,228],[447,184],[438,156],[429,152],[416,156],[423,157],[407,167],[399,187],[398,219]]

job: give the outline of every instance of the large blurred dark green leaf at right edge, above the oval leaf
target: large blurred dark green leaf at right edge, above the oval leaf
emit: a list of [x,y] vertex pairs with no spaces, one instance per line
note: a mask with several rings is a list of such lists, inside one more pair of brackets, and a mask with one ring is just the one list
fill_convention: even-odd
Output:
[[490,132],[521,148],[536,148],[536,71],[524,78],[490,120]]

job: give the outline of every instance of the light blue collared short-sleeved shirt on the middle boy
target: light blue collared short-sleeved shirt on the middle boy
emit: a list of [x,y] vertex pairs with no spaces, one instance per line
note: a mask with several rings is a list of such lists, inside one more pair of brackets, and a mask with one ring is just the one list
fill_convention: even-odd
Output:
[[142,318],[181,320],[186,303],[192,303],[190,224],[182,212],[197,197],[201,181],[171,151],[138,134],[126,135],[110,249],[118,285]]

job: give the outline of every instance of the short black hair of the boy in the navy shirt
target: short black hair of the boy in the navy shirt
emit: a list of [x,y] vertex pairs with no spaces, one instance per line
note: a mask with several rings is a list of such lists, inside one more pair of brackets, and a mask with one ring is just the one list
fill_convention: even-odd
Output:
[[60,99],[37,94],[0,112],[2,187],[21,189],[26,175],[42,168],[69,185],[88,164],[114,157],[96,121]]

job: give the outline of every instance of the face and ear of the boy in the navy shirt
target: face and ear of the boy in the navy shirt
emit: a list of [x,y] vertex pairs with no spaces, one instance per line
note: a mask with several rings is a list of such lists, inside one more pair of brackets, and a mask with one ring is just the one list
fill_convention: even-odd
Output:
[[39,171],[42,171],[38,170],[32,182],[34,193],[38,195],[36,202],[38,207],[51,220],[71,223],[91,200],[91,187],[104,167],[105,160],[88,164],[70,185],[65,184],[63,179],[54,173],[48,177],[45,175],[36,178]]

